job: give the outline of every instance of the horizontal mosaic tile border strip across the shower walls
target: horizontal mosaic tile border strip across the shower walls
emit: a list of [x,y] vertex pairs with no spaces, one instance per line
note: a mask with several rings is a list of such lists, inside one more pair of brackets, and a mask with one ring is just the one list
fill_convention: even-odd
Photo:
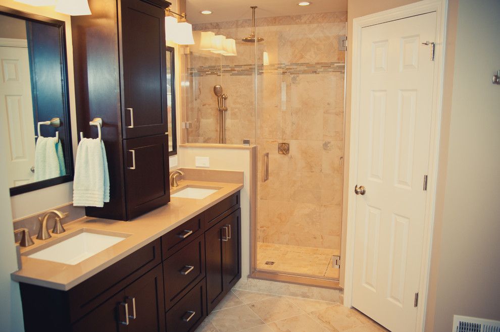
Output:
[[[290,74],[290,75],[311,75],[344,73],[345,64],[343,62],[316,62],[316,63],[291,63],[291,64],[270,64],[258,65],[258,75],[262,74]],[[251,76],[255,74],[255,65],[218,65],[218,66],[197,66],[189,67],[187,75],[192,77],[203,76]]]

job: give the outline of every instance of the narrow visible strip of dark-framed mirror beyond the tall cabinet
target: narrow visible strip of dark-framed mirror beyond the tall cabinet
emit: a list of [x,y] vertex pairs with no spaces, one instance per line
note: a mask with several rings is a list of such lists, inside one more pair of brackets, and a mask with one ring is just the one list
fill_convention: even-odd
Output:
[[175,124],[175,62],[174,48],[167,46],[167,114],[168,154],[177,154],[177,133]]

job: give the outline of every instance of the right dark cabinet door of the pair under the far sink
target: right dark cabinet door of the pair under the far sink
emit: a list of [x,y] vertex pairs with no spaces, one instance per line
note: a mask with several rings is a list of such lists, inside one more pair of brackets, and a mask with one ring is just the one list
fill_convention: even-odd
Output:
[[223,251],[224,289],[229,292],[241,278],[241,209],[237,209],[223,221],[223,228],[227,229]]

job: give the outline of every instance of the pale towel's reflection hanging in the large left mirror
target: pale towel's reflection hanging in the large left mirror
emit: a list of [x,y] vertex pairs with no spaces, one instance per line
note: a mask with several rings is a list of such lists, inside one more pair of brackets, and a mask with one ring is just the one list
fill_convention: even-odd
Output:
[[[59,156],[56,150],[56,143],[57,139],[55,137],[40,136],[36,140],[35,181],[42,181],[61,176],[61,167],[59,163]],[[60,149],[60,151],[62,154],[62,148]]]

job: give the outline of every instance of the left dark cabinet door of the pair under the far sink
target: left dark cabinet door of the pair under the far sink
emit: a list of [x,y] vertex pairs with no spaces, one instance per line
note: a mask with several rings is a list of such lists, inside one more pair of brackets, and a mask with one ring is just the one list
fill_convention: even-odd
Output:
[[[205,232],[205,257],[207,266],[207,311],[210,313],[224,297],[223,278],[223,243],[221,220],[210,230]],[[225,239],[225,238],[224,238]]]

